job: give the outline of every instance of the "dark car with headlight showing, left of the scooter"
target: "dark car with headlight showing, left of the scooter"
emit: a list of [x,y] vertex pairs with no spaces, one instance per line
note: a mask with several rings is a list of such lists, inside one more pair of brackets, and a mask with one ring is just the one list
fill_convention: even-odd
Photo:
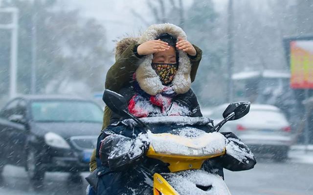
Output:
[[0,171],[25,167],[32,180],[45,172],[89,171],[103,110],[92,101],[67,96],[22,96],[0,111]]

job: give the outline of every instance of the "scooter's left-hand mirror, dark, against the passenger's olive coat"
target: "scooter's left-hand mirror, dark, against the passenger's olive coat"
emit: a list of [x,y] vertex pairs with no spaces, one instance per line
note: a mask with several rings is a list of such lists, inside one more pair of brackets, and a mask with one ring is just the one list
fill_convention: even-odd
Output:
[[120,94],[106,89],[103,93],[102,100],[114,113],[122,117],[129,117],[129,115],[127,114],[128,105],[126,99]]

